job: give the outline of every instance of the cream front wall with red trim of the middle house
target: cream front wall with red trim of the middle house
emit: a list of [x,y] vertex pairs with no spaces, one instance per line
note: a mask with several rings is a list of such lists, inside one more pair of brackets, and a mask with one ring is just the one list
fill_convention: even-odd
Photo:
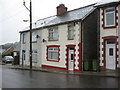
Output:
[[[48,41],[48,28],[42,30],[42,38],[46,40],[46,42],[42,43],[42,67],[52,67],[65,69],[68,68],[67,62],[67,46],[75,47],[74,54],[74,70],[80,70],[80,23],[74,23],[75,32],[74,32],[74,40],[68,40],[68,24],[58,25],[58,41]],[[47,60],[47,47],[49,46],[58,46],[59,47],[59,61],[48,61]]]

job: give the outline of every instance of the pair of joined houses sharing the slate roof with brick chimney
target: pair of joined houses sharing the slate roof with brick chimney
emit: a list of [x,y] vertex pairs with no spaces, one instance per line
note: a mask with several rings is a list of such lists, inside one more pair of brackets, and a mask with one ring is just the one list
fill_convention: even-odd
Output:
[[[81,71],[84,61],[98,62],[97,10],[94,5],[67,11],[67,7],[60,4],[56,15],[33,23],[32,65]],[[20,64],[23,66],[30,65],[29,35],[29,27],[20,32]]]

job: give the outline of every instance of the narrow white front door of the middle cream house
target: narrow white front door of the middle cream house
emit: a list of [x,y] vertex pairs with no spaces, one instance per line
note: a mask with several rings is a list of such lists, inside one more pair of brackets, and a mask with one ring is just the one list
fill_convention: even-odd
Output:
[[74,70],[74,47],[68,49],[68,70]]

